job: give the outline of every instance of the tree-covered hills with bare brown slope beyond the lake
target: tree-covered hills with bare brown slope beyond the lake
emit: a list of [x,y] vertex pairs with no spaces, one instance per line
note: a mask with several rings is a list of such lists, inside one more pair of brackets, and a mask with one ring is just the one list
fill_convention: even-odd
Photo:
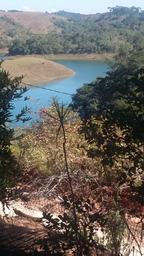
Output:
[[[0,47],[15,54],[79,54],[121,52],[144,48],[144,11],[137,7],[109,7],[107,13],[81,18],[48,13],[0,12]],[[11,15],[11,16],[10,16]],[[11,19],[11,21],[10,21]],[[18,33],[18,24],[27,29]],[[13,35],[7,31],[12,24]],[[5,41],[4,41],[5,39]],[[3,45],[2,45],[3,42]],[[3,47],[2,47],[3,46]]]

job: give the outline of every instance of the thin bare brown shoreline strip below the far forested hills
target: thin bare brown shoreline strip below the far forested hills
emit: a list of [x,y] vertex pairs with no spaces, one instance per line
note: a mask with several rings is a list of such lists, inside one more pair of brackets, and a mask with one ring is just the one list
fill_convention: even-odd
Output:
[[[2,51],[1,51],[2,53]],[[6,53],[6,52],[4,52]],[[47,60],[105,60],[113,59],[114,54],[113,53],[102,53],[102,54],[51,54],[51,55],[38,55],[38,54],[33,54],[33,55],[15,55],[15,56],[9,56],[6,54],[6,57],[9,59],[18,59],[18,58],[25,58],[25,57],[33,57],[33,58],[41,58],[41,59],[47,59]]]

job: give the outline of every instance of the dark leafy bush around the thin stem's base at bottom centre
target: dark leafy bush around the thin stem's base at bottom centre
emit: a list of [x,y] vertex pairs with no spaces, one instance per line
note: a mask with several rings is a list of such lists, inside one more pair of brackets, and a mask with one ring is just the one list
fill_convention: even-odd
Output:
[[61,256],[69,253],[88,256],[95,255],[97,250],[104,251],[97,236],[98,228],[103,230],[107,221],[103,213],[97,211],[89,199],[76,200],[76,225],[71,195],[64,196],[61,204],[67,210],[63,216],[54,218],[50,213],[43,213],[49,232],[38,241],[41,250],[49,255]]

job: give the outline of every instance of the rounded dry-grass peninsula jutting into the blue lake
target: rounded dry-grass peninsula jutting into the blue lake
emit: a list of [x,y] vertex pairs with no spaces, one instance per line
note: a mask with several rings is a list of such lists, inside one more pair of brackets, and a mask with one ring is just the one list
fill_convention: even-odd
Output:
[[3,68],[9,71],[11,76],[26,75],[24,83],[39,83],[73,76],[76,73],[71,69],[53,61],[40,58],[19,58],[7,60]]

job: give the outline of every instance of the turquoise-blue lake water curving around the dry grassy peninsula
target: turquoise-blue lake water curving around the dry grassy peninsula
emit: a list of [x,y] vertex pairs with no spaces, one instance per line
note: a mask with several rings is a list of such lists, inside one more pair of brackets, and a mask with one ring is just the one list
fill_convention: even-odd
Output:
[[[0,53],[0,57],[3,54]],[[3,58],[4,59],[4,58]],[[76,92],[78,87],[81,87],[84,83],[90,83],[96,79],[97,76],[104,76],[107,71],[107,65],[102,60],[53,60],[57,63],[60,63],[73,71],[76,72],[75,76],[71,76],[64,79],[54,80],[45,83],[33,84],[36,86],[45,87],[47,89],[61,91],[73,94]],[[61,94],[57,92],[47,91],[41,88],[30,88],[30,90],[25,94],[25,96],[30,96],[33,99],[39,98],[40,106],[48,107],[51,97],[57,96],[59,98],[59,102],[71,102],[71,96],[66,94]],[[26,102],[19,101],[15,102],[15,111],[14,114],[17,114],[23,106],[27,105],[27,107],[31,107],[33,111],[35,111],[38,105],[28,100]]]

